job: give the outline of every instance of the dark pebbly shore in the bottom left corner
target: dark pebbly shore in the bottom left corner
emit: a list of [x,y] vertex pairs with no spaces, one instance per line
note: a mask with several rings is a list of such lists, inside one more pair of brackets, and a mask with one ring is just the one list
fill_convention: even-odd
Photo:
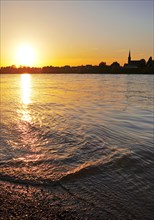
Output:
[[0,220],[87,219],[65,205],[66,195],[0,181]]

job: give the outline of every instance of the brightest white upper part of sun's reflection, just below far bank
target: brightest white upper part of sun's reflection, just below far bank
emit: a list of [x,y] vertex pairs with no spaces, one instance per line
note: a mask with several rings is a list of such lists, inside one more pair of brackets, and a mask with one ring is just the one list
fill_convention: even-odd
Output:
[[31,76],[30,74],[21,75],[21,90],[22,90],[22,102],[25,105],[28,105],[31,95]]

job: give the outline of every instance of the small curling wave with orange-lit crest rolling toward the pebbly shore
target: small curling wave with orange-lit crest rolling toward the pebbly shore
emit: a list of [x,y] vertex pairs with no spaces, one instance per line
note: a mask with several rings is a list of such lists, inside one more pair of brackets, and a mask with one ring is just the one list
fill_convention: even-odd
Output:
[[[126,161],[126,156],[129,160],[129,152],[125,149],[117,150],[113,148],[109,154],[95,160],[87,162],[81,161],[74,163],[73,159],[68,158],[42,158],[38,160],[29,160],[18,158],[18,160],[10,160],[1,163],[1,178],[15,180],[16,182],[28,181],[28,184],[37,185],[50,184],[54,181],[66,182],[74,179],[82,179],[85,177],[95,176],[97,174],[107,173],[106,169],[121,168],[121,164]],[[30,158],[31,159],[31,158]],[[65,162],[64,162],[65,161]],[[124,162],[123,162],[124,161]],[[131,165],[131,161],[129,162]],[[72,166],[74,169],[72,169]],[[65,170],[65,172],[64,172]]]

